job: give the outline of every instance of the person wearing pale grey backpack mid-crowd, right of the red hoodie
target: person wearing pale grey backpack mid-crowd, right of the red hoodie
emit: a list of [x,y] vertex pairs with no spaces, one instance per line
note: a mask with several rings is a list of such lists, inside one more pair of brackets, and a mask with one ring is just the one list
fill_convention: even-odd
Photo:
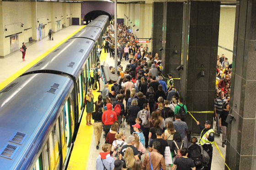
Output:
[[150,113],[149,113],[149,104],[143,104],[143,110],[140,110],[137,117],[139,117],[142,122],[141,125],[144,127],[143,135],[145,136],[145,148],[149,147],[149,122],[151,121]]

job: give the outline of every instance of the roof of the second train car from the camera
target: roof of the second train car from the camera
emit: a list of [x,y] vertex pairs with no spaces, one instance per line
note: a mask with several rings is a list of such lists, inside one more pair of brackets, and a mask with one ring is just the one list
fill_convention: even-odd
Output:
[[38,72],[39,70],[54,70],[73,75],[78,80],[80,69],[87,60],[94,45],[95,42],[89,39],[69,39],[22,75]]

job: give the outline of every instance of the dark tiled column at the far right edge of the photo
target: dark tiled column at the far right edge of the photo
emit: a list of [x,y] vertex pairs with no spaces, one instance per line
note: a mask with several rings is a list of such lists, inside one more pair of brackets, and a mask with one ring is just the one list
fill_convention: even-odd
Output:
[[[256,1],[237,0],[226,164],[231,170],[256,169]],[[227,170],[227,167],[225,167]]]

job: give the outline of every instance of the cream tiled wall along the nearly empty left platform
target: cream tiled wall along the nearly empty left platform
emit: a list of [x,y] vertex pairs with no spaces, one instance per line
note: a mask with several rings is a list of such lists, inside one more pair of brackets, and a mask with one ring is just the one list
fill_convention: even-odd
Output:
[[[45,25],[45,36],[48,36],[50,29],[57,31],[56,21],[60,20],[60,29],[62,29],[62,24],[69,25],[67,18],[80,18],[80,3],[71,4],[72,15],[70,15],[69,9],[69,3],[37,2],[36,17],[36,2],[0,1],[0,32],[3,33],[0,34],[0,56],[10,54],[10,37],[5,38],[5,36],[22,32],[19,34],[19,47],[21,47],[22,42],[29,41],[29,37],[39,40],[39,31],[36,29],[39,23]],[[21,23],[24,24],[23,27],[21,27]],[[5,28],[7,31],[4,30]]]

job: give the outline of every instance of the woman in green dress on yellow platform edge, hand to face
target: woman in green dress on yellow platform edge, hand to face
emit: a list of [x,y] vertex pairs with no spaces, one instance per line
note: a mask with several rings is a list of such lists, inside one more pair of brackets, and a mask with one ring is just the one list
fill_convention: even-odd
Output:
[[[94,111],[94,105],[93,105],[93,99],[94,99],[94,95],[92,94],[92,90],[88,89],[88,93],[87,95],[85,95],[86,98],[86,125],[91,126],[91,114]],[[89,122],[88,122],[88,118],[89,118]]]

